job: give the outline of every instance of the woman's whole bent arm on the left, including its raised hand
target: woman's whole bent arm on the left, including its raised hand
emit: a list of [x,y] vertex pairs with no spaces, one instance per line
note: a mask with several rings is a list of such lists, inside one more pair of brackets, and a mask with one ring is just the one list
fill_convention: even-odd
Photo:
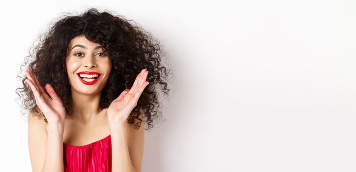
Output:
[[[26,82],[30,85],[36,99],[36,110],[44,115],[48,126],[44,130],[43,120],[34,119],[34,111],[29,113],[29,149],[31,166],[36,172],[63,172],[63,131],[65,108],[55,89],[46,84],[44,91],[36,75],[30,70],[25,71]],[[38,144],[39,143],[39,144]],[[36,149],[40,151],[37,152]]]

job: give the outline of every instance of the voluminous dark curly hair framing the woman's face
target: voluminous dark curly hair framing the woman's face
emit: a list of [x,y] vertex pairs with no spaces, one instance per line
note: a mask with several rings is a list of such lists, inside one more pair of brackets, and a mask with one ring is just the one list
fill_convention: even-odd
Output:
[[[37,76],[45,91],[44,86],[47,83],[53,86],[68,113],[71,107],[71,90],[65,58],[69,53],[69,42],[76,36],[84,35],[88,40],[99,43],[112,62],[110,77],[102,91],[100,108],[108,108],[124,89],[133,85],[137,74],[147,68],[147,81],[150,84],[141,94],[127,122],[134,123],[135,117],[139,122],[134,128],[138,129],[142,122],[139,115],[143,114],[148,129],[153,128],[153,120],[162,117],[156,90],[167,95],[170,90],[164,81],[170,73],[160,63],[161,57],[166,53],[157,39],[135,22],[131,22],[134,21],[127,20],[122,15],[113,15],[106,10],[99,12],[96,8],[89,8],[77,16],[64,15],[55,21],[44,35],[40,34],[39,43],[32,52],[34,56],[30,53],[25,57],[25,64],[20,67],[19,74],[22,73],[22,67],[30,62],[27,68]],[[23,87],[17,88],[16,94],[22,99],[21,107],[35,112],[37,117],[44,117],[35,103],[30,86],[25,81],[27,77],[23,75],[20,78]],[[46,118],[44,121],[48,124]]]

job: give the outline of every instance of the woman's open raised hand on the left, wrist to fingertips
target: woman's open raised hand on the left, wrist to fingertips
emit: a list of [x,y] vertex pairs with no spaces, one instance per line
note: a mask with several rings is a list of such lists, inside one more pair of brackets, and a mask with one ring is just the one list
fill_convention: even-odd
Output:
[[45,88],[50,96],[43,90],[39,84],[36,75],[30,69],[25,71],[27,75],[26,82],[30,85],[33,95],[36,99],[36,104],[45,115],[48,124],[64,123],[65,108],[63,103],[56,94],[55,90],[50,84],[46,84]]

